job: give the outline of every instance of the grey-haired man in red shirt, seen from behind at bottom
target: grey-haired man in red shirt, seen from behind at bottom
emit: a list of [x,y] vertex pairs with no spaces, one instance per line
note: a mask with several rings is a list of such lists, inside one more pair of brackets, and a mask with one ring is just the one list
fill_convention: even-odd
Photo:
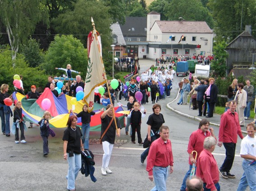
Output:
[[212,155],[215,147],[214,137],[205,138],[204,150],[197,160],[196,176],[204,182],[204,191],[220,191],[218,165]]

